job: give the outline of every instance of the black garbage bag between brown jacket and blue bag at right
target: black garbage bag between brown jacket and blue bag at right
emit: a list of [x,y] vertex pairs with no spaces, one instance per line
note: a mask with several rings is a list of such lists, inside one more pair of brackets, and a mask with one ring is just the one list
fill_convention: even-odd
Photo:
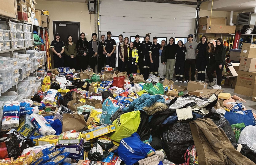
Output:
[[214,122],[214,124],[223,129],[231,143],[236,143],[236,137],[233,132],[233,129],[223,115],[214,113],[213,116],[209,118]]

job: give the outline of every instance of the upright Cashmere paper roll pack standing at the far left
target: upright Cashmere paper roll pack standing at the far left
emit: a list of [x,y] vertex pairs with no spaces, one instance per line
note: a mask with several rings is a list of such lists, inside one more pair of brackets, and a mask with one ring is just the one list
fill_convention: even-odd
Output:
[[20,123],[20,102],[6,101],[3,108],[2,128],[18,127]]

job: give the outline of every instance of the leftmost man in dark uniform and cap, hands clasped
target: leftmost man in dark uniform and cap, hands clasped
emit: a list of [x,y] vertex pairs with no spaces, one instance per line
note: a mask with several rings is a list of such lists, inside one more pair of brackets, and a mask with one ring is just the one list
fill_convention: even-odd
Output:
[[63,67],[64,66],[64,54],[65,51],[65,44],[63,41],[60,41],[61,36],[59,33],[55,34],[55,40],[51,42],[51,48],[54,52],[53,55],[53,64],[55,68]]

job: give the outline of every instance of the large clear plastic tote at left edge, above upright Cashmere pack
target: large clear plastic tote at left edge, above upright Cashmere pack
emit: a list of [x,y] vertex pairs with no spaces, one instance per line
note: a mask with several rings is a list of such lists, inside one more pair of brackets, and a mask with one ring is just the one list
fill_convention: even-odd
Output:
[[13,66],[0,69],[0,74],[2,74],[2,77],[0,78],[0,84],[4,85],[2,92],[5,92],[12,87],[12,71]]

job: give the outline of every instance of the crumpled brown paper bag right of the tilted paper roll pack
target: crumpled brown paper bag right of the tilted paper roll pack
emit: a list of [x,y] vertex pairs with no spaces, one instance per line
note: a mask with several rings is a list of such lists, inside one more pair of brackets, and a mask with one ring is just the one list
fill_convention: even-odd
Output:
[[87,127],[83,115],[64,113],[62,121],[62,132],[70,130],[76,130],[76,132],[79,132]]

